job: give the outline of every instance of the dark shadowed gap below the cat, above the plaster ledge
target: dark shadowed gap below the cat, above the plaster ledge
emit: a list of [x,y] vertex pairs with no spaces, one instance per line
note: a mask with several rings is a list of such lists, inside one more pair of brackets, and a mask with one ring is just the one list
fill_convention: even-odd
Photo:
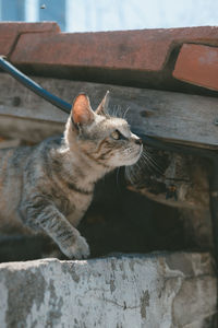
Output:
[[[180,210],[128,190],[122,169],[118,178],[114,172],[98,183],[78,231],[86,237],[92,257],[198,248],[193,235],[186,234]],[[0,236],[0,261],[53,257],[57,249],[47,237]],[[65,259],[61,254],[58,257]]]

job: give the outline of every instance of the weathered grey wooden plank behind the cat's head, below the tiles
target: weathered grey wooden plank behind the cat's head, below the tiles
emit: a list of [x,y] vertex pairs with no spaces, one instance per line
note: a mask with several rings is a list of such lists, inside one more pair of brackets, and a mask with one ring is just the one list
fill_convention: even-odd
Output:
[[[218,148],[218,126],[214,124],[218,118],[218,98],[48,78],[34,80],[69,103],[78,92],[86,92],[94,108],[109,90],[110,107],[120,106],[123,112],[130,108],[126,118],[134,130],[175,142]],[[0,131],[5,124],[2,115],[44,120],[45,125],[63,124],[68,117],[3,73],[0,74]],[[49,133],[53,131],[48,128]]]

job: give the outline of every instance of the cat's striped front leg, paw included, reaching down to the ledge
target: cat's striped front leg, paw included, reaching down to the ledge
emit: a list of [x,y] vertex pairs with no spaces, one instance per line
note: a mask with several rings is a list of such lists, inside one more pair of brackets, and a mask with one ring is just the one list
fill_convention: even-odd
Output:
[[60,247],[69,258],[87,258],[89,247],[80,232],[70,224],[64,215],[53,203],[47,203],[45,199],[37,202],[24,202],[19,209],[24,223],[38,225]]

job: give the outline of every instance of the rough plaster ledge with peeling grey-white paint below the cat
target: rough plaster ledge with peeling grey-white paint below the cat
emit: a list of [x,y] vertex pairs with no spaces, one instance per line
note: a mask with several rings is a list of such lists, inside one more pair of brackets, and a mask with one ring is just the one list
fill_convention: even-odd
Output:
[[1,328],[205,328],[216,296],[208,254],[0,265]]

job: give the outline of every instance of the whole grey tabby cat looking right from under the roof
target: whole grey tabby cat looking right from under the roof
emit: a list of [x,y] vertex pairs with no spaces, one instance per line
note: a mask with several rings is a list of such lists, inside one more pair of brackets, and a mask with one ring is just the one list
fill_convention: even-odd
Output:
[[87,258],[76,230],[90,204],[95,183],[116,167],[137,162],[142,140],[125,119],[108,114],[109,93],[94,112],[75,98],[63,137],[35,147],[0,151],[0,229],[44,233],[68,258]]

